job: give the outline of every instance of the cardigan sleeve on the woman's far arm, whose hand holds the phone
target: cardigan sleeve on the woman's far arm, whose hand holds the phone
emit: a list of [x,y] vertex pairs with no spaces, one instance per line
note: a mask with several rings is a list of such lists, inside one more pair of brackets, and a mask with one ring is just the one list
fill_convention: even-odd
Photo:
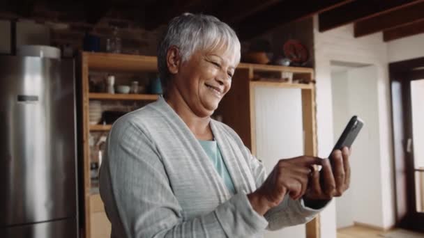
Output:
[[[267,174],[264,165],[245,148],[250,156],[250,168],[255,177],[256,187],[261,187],[266,180]],[[306,207],[303,199],[292,200],[289,196],[285,196],[280,205],[273,207],[264,215],[268,221],[268,230],[279,230],[291,225],[308,223],[319,212],[324,209],[312,209]]]

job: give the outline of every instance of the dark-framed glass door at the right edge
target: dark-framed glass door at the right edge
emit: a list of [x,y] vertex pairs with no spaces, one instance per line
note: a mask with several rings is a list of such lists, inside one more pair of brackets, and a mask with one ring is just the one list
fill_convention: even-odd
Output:
[[400,227],[424,231],[424,58],[389,65]]

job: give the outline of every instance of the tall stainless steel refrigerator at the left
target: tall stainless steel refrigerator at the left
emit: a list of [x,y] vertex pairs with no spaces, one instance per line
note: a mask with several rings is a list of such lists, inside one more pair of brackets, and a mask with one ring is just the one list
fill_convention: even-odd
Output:
[[75,64],[0,56],[0,237],[77,237]]

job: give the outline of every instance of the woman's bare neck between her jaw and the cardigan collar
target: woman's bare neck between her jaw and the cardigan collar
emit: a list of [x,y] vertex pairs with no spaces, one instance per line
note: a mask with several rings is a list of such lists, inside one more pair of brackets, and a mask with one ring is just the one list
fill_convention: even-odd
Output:
[[181,96],[178,90],[167,90],[165,101],[174,111],[180,116],[180,118],[188,126],[192,134],[199,140],[210,141],[213,139],[213,134],[209,122],[211,118],[209,116],[201,118],[190,109],[187,102]]

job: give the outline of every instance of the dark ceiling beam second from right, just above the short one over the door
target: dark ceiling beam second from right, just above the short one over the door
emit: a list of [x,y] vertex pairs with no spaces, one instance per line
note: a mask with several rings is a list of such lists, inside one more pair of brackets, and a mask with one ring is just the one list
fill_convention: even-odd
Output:
[[413,24],[424,19],[424,1],[355,23],[354,35],[361,37],[379,31]]

